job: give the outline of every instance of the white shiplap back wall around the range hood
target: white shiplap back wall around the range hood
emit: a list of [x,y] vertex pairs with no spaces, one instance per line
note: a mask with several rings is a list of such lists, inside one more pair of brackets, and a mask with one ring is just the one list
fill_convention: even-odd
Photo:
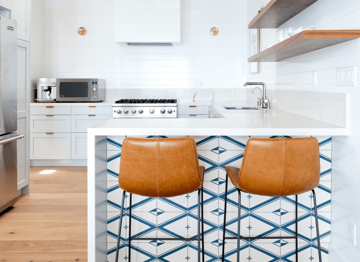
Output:
[[[79,27],[86,35],[77,33]],[[218,35],[210,34],[212,27]],[[203,79],[203,88],[243,88],[246,28],[246,0],[181,0],[181,46],[120,46],[114,43],[113,0],[45,0],[45,77],[104,78],[109,94],[195,89],[196,79]]]

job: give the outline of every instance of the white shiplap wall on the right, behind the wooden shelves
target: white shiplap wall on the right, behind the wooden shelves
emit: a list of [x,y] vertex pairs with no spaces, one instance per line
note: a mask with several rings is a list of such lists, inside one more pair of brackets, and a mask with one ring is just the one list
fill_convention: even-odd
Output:
[[[248,1],[248,21],[259,10],[263,1]],[[359,29],[359,0],[319,0],[300,14],[286,22],[281,28],[302,25],[315,26],[322,30]],[[263,30],[262,46],[275,44],[275,29]],[[262,49],[261,49],[262,50]],[[349,240],[349,221],[360,228],[360,84],[355,87],[336,86],[337,67],[356,66],[357,80],[360,77],[360,39],[330,46],[311,53],[299,55],[280,62],[261,63],[260,74],[248,74],[248,80],[264,80],[274,97],[273,105],[283,91],[303,91],[301,99],[288,96],[282,108],[301,108],[311,101],[313,106],[321,104],[327,93],[347,93],[346,107],[349,109],[348,126],[351,136],[333,137],[332,156],[332,231],[329,261],[360,261],[360,234],[357,230],[357,245]],[[312,86],[312,71],[317,72],[317,86]],[[252,99],[251,93],[248,99]],[[295,94],[295,93],[294,93]],[[303,101],[303,102],[302,102]],[[320,103],[317,103],[320,101]],[[321,110],[320,110],[321,111]],[[301,110],[297,112],[303,114]],[[314,110],[315,119],[319,119]],[[316,258],[317,259],[317,258]],[[317,260],[316,260],[317,261]]]

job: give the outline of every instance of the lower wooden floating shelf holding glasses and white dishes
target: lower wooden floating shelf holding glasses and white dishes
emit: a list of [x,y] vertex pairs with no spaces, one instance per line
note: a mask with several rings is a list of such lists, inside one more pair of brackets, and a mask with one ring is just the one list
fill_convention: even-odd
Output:
[[305,30],[248,58],[276,62],[360,37],[360,30]]

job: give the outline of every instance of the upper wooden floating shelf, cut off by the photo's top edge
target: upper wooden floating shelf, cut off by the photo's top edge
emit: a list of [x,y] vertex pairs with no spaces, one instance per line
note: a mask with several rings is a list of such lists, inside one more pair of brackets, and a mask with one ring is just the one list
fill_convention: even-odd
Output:
[[278,28],[318,0],[271,0],[251,20],[248,28]]

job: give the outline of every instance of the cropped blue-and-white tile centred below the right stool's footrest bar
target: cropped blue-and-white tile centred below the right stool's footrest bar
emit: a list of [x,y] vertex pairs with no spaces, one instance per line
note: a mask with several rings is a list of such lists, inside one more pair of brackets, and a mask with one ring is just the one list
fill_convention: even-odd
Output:
[[273,243],[251,243],[248,261],[251,262],[280,261],[280,247],[279,245]]

